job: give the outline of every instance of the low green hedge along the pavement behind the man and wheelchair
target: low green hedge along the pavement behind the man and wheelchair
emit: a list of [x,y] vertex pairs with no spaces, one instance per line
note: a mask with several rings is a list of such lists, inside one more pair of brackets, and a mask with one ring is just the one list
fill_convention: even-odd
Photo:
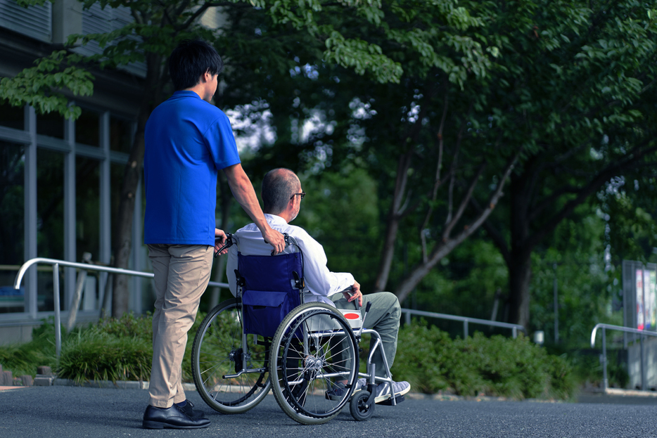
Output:
[[[191,342],[203,315],[190,330],[184,379],[191,382]],[[148,380],[151,373],[150,316],[126,315],[106,319],[65,337],[56,373],[78,382],[88,380]],[[38,365],[54,363],[53,326],[35,331],[32,347],[0,349],[6,368],[18,366],[33,373]],[[366,346],[366,342],[362,345]],[[364,352],[364,355],[366,352]],[[38,361],[39,363],[30,363]],[[364,366],[362,361],[362,366]],[[485,337],[476,333],[452,340],[447,333],[414,323],[400,330],[393,367],[395,380],[411,382],[414,392],[446,392],[464,396],[480,394],[514,399],[570,399],[577,384],[566,359],[547,354],[527,337]]]

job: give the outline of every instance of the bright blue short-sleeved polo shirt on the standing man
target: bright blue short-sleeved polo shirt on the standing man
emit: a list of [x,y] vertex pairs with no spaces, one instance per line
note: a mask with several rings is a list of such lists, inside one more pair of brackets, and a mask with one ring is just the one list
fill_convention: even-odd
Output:
[[144,243],[214,245],[217,172],[240,162],[227,115],[176,91],[151,113],[144,142]]

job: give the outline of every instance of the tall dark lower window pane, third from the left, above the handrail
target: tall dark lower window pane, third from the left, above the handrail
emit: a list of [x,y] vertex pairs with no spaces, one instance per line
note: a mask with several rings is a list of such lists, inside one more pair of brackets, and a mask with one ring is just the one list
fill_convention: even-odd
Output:
[[100,162],[91,158],[75,160],[75,242],[77,262],[84,252],[91,252],[91,259],[98,260],[100,242]]

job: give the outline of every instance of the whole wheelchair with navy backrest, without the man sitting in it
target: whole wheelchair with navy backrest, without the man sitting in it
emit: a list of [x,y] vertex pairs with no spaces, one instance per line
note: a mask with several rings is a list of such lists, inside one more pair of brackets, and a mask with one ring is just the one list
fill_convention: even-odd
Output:
[[[393,394],[382,404],[403,401],[402,395],[394,395],[381,337],[362,326],[369,306],[361,320],[360,309],[302,304],[303,254],[291,236],[284,236],[286,252],[281,255],[238,252],[237,296],[218,304],[198,328],[191,364],[200,397],[220,413],[243,413],[271,390],[283,412],[305,425],[326,423],[347,404],[355,420],[368,420],[374,413],[378,382],[387,382]],[[239,248],[238,240],[229,234],[221,250]],[[374,342],[367,372],[359,373],[364,333]],[[375,376],[372,358],[377,349],[385,378]],[[358,387],[359,377],[366,379],[366,387]],[[338,387],[336,381],[347,384]]]

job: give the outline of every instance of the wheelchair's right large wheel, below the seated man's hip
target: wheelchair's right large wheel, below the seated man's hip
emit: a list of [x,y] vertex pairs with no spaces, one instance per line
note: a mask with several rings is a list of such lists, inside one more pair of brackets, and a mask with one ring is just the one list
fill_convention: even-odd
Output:
[[[358,380],[354,332],[338,310],[301,304],[283,319],[269,363],[274,397],[298,423],[326,423],[340,413]],[[336,382],[346,381],[346,387]]]

